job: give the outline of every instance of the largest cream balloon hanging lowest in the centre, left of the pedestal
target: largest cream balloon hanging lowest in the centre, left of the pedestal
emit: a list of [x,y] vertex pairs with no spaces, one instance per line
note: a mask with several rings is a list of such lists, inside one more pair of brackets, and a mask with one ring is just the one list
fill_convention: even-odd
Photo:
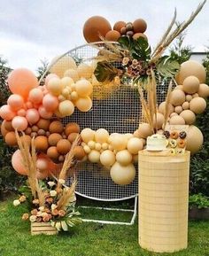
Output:
[[128,185],[135,179],[135,167],[133,164],[128,166],[121,166],[120,163],[115,162],[111,168],[112,181],[118,185]]

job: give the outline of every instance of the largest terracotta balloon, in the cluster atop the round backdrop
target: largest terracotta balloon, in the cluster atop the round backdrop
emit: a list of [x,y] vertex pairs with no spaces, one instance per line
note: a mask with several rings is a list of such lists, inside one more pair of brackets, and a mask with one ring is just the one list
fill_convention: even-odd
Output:
[[83,35],[88,43],[101,41],[99,35],[105,36],[111,30],[111,25],[107,19],[101,16],[93,16],[85,22]]

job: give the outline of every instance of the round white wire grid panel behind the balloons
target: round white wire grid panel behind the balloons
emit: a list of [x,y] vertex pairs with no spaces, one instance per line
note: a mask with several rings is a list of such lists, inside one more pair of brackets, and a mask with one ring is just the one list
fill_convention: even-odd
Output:
[[[103,47],[101,43],[96,44]],[[89,58],[96,57],[97,53],[96,48],[86,44],[68,51],[65,56],[73,57],[78,63],[89,64],[91,62]],[[164,86],[160,88],[160,91],[158,89],[158,101],[162,102],[166,90]],[[89,112],[80,112],[75,109],[74,114],[63,119],[63,122],[77,122],[81,129],[92,128],[97,130],[98,128],[105,128],[110,134],[135,132],[142,116],[142,106],[135,87],[128,85],[120,85],[117,88],[109,85],[96,86],[93,95],[93,106]],[[76,193],[86,198],[104,201],[134,198],[138,191],[137,165],[135,165],[135,169],[134,182],[126,186],[120,186],[112,182],[110,169],[89,162],[80,163],[76,171],[78,181]]]

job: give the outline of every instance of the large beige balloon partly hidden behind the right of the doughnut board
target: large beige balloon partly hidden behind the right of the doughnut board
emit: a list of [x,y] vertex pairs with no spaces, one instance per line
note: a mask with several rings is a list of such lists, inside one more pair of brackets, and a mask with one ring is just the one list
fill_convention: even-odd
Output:
[[204,137],[199,128],[191,125],[187,133],[187,145],[186,150],[190,151],[191,154],[199,151],[203,145]]

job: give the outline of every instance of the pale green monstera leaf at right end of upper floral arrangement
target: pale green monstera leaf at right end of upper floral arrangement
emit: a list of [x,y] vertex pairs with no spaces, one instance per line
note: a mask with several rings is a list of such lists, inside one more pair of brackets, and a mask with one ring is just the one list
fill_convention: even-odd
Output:
[[165,78],[172,78],[180,68],[176,60],[171,59],[169,56],[163,56],[159,59],[157,64],[158,73]]

